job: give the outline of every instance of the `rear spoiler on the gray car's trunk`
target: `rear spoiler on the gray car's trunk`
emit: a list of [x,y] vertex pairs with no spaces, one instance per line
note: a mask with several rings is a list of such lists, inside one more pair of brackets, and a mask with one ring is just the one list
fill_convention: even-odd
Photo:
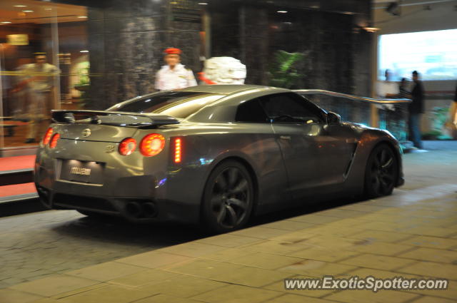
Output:
[[123,111],[53,110],[51,111],[51,119],[55,123],[91,123],[136,127],[151,127],[179,123],[179,120],[176,120],[176,118],[169,115],[129,113]]

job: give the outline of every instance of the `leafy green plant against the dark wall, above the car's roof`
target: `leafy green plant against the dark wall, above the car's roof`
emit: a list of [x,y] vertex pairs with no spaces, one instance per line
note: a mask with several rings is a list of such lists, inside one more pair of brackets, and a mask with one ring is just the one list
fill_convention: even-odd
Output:
[[296,66],[305,58],[304,53],[288,53],[276,51],[273,63],[269,68],[270,86],[292,88],[303,77]]

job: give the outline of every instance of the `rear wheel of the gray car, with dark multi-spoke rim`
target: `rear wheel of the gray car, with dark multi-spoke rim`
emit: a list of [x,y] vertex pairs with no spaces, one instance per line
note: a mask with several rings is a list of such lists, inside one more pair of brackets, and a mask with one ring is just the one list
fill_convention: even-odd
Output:
[[253,180],[248,170],[236,160],[226,160],[206,180],[202,223],[211,233],[238,230],[251,217],[253,204]]

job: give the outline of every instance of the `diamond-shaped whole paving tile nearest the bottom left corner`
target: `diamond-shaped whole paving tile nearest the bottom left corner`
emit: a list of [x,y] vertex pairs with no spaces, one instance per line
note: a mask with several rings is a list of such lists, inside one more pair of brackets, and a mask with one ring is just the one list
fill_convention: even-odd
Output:
[[65,274],[56,274],[51,277],[37,279],[31,282],[16,284],[11,289],[51,297],[62,292],[99,284],[99,281],[81,277],[71,277]]

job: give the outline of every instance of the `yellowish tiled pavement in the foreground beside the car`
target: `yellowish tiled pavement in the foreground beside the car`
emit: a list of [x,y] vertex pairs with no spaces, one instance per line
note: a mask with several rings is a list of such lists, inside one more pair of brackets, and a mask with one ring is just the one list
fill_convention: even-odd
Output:
[[[208,237],[0,290],[1,303],[457,302],[457,185]],[[436,277],[446,290],[286,290],[288,277]]]

